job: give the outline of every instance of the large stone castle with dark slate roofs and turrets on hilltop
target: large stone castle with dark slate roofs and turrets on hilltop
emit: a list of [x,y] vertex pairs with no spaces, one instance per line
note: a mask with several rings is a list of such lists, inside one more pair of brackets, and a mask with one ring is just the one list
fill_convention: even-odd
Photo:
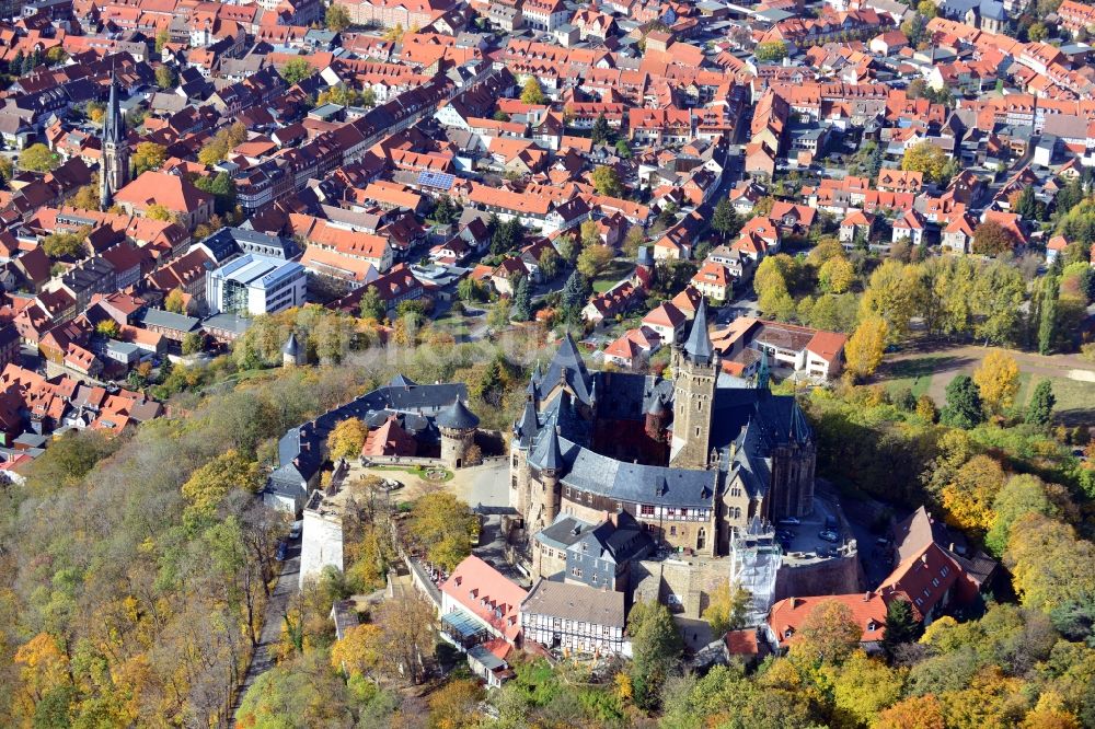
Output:
[[537,534],[624,511],[656,541],[727,555],[753,518],[814,509],[814,432],[793,396],[722,371],[701,303],[672,378],[590,373],[569,334],[514,424],[510,505]]

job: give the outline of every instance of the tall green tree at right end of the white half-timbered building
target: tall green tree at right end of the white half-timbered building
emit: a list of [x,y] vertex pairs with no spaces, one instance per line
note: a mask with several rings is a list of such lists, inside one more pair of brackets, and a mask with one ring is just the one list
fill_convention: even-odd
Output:
[[632,643],[631,681],[635,703],[644,708],[656,705],[658,692],[683,650],[669,610],[658,602],[637,602],[627,616]]

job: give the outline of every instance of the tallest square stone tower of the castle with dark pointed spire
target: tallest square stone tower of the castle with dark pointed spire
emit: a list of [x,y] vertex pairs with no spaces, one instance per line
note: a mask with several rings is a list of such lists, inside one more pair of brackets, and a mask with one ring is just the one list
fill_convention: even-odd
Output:
[[673,443],[669,464],[706,468],[718,355],[707,334],[707,303],[700,301],[688,340],[673,347]]

